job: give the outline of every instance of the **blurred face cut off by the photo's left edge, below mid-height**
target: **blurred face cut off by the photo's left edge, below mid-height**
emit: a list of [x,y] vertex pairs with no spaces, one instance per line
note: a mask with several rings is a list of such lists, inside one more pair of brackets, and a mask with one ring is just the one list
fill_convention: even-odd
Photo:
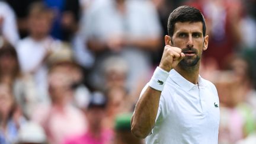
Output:
[[0,84],[0,118],[8,117],[11,112],[14,99],[12,97],[11,89],[8,85]]

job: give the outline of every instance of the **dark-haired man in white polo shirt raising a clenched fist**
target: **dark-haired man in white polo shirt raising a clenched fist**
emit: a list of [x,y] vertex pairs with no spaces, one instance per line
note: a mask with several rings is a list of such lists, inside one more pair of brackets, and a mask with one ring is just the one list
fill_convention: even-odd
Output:
[[161,62],[137,101],[132,132],[146,143],[217,143],[219,98],[215,86],[199,76],[209,37],[201,12],[175,9]]

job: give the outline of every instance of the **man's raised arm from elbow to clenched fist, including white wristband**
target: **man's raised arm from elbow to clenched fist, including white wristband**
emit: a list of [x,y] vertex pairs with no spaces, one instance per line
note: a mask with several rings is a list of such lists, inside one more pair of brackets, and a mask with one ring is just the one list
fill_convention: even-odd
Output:
[[[145,138],[151,132],[155,125],[162,92],[162,89],[158,88],[157,84],[161,85],[160,87],[164,86],[168,72],[177,66],[184,56],[180,48],[169,45],[165,46],[159,68],[156,68],[149,82],[149,87],[146,88],[145,92],[143,92],[137,101],[135,112],[132,116],[132,133],[136,137]],[[166,75],[166,73],[167,76],[163,76]]]

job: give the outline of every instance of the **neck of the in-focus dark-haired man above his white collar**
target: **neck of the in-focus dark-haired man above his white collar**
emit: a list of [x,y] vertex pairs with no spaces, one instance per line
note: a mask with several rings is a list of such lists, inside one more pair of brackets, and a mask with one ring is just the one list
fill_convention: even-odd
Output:
[[193,84],[198,83],[199,78],[199,62],[196,66],[180,66],[178,65],[175,69],[181,76],[190,81]]

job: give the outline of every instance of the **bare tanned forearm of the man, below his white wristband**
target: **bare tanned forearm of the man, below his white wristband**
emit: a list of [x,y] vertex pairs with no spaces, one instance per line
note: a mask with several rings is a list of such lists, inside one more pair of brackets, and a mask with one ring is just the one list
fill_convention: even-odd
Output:
[[132,133],[145,138],[155,125],[161,91],[148,87],[136,104],[132,117]]

